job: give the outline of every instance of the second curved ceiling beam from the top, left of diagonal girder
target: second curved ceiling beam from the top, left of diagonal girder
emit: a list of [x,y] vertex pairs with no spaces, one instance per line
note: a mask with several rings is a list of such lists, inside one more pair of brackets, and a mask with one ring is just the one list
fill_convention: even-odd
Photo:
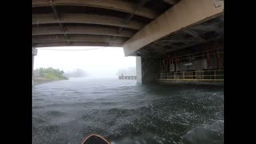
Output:
[[[141,22],[131,21],[126,24],[122,18],[99,14],[61,14],[61,23],[96,24],[105,26],[122,26],[134,30],[141,30]],[[58,24],[54,14],[32,14],[32,25]]]

